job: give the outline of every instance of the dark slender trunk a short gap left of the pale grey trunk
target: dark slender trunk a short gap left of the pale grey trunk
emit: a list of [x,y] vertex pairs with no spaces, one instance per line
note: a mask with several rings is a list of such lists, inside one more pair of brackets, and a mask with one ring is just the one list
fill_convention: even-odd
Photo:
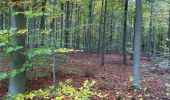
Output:
[[126,37],[127,37],[127,12],[128,12],[128,0],[125,0],[125,9],[124,9],[124,28],[123,28],[123,41],[122,41],[122,49],[123,49],[123,64],[126,65]]

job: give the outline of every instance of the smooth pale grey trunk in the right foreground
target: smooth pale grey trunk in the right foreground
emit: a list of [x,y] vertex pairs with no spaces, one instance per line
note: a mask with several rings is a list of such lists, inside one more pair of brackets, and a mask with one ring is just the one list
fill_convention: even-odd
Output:
[[135,16],[135,40],[133,53],[133,86],[137,89],[141,87],[140,78],[140,51],[141,51],[141,33],[142,33],[142,8],[141,0],[136,0]]

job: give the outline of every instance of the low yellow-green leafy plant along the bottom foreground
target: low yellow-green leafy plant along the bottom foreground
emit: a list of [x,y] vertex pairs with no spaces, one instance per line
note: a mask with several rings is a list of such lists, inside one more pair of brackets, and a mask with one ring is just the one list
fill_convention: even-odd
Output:
[[34,90],[26,94],[17,94],[12,96],[13,100],[90,100],[91,97],[97,96],[99,98],[106,98],[107,94],[97,93],[91,91],[91,88],[95,85],[95,81],[89,82],[86,80],[83,86],[79,89],[75,89],[70,86],[71,80],[66,80],[65,82],[60,82],[57,88],[57,97],[52,96],[53,86],[47,89]]

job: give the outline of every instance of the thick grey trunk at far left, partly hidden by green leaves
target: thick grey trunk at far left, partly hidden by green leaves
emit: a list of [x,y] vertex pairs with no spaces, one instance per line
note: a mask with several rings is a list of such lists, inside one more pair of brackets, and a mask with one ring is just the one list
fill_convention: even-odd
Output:
[[[11,2],[15,1],[24,1],[24,0],[12,0]],[[16,6],[14,4],[11,5],[11,11],[12,12],[24,12],[24,6]],[[24,14],[17,14],[17,15],[12,15],[11,16],[11,29],[17,29],[13,30],[11,34],[16,34],[16,32],[20,29],[25,29],[26,28],[26,17]],[[11,41],[15,43],[17,46],[23,46],[24,48],[26,47],[25,45],[25,35],[20,35],[16,36]],[[23,67],[23,64],[25,63],[25,56],[24,56],[24,49],[17,50],[14,53],[11,53],[11,70],[15,69],[20,69]],[[18,73],[14,77],[10,77],[9,79],[9,87],[8,87],[8,95],[15,95],[17,93],[24,93],[26,88],[25,88],[25,71]]]

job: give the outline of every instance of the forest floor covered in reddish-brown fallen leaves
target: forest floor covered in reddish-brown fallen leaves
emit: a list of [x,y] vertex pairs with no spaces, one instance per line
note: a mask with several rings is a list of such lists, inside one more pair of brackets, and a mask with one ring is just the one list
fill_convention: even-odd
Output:
[[[145,58],[141,60],[142,88],[137,91],[132,89],[132,64],[128,57],[128,64],[122,65],[122,57],[119,54],[106,54],[105,65],[101,65],[101,59],[97,54],[85,55],[84,53],[70,53],[69,60],[57,67],[57,84],[66,79],[72,79],[72,85],[79,88],[85,80],[95,80],[93,91],[107,93],[105,100],[170,100],[170,95],[165,84],[170,83],[170,73],[162,68],[155,67],[151,61]],[[6,62],[0,61],[0,65]],[[1,68],[1,67],[0,67]],[[43,73],[41,77],[29,77],[27,90],[32,91],[52,85],[50,66],[34,68],[29,75],[35,75],[37,71]],[[8,68],[1,68],[6,71]],[[45,74],[47,73],[47,74]],[[7,80],[0,82],[0,96],[7,92]]]

